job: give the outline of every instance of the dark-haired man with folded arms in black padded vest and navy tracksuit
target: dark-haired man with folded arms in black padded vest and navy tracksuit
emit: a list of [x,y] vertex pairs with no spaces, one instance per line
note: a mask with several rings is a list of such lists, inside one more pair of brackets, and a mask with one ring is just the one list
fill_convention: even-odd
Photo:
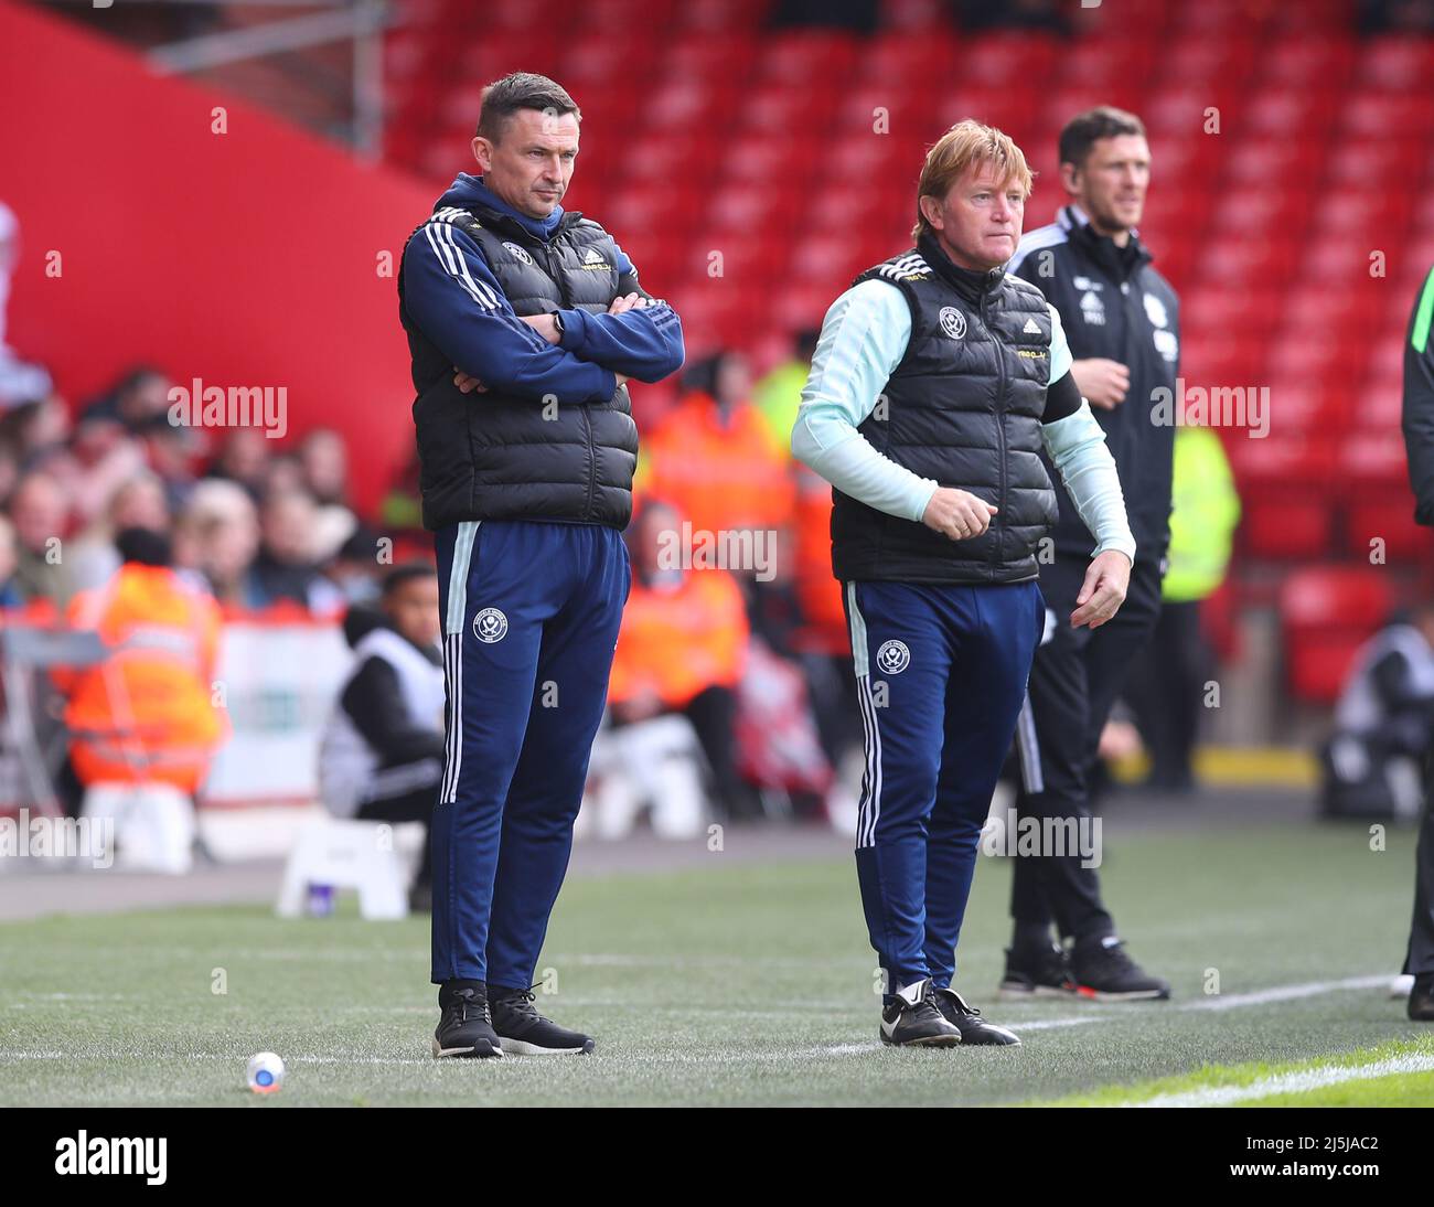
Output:
[[559,205],[578,122],[542,76],[488,87],[482,176],[459,173],[399,269],[447,672],[436,1056],[594,1046],[529,988],[631,588],[627,380],[677,370],[683,330],[612,237]]

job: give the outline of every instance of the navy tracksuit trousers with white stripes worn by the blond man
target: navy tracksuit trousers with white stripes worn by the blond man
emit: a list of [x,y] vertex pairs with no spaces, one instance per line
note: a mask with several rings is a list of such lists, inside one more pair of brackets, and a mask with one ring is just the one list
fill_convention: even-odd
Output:
[[886,996],[955,975],[981,827],[1045,624],[1035,579],[846,582],[866,728],[856,874]]

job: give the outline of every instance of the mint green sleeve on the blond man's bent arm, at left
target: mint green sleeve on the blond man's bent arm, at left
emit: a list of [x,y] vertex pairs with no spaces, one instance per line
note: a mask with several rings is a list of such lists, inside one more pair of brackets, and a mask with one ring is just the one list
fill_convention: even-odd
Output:
[[882,456],[856,430],[876,409],[909,341],[911,310],[896,285],[862,281],[832,302],[792,427],[792,454],[843,495],[919,522],[935,479]]

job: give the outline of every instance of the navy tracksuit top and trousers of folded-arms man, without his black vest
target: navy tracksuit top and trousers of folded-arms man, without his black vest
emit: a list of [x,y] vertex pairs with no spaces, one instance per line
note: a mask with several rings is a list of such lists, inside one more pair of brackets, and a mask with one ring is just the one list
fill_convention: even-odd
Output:
[[[561,209],[528,218],[467,175],[439,205],[475,201],[539,239],[562,218]],[[555,356],[470,241],[413,247],[410,314],[480,378],[486,366],[502,366],[511,393],[581,399],[589,378],[612,370],[657,380],[683,361],[681,327],[665,308],[585,323],[601,366]],[[631,272],[631,264],[619,268]],[[482,407],[483,396],[472,404]],[[568,869],[632,569],[622,533],[601,523],[473,519],[440,528],[435,540],[447,715],[432,829],[432,979],[526,989]]]

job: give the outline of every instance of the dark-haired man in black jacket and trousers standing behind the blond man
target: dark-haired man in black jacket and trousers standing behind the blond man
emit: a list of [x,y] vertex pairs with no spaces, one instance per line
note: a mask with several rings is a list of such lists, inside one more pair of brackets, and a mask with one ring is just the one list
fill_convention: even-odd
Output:
[[[1097,632],[1060,624],[1077,601],[1090,536],[1058,485],[1054,556],[1041,568],[1048,616],[1017,724],[1022,819],[1090,817],[1088,777],[1100,733],[1131,657],[1160,615],[1170,540],[1174,426],[1153,406],[1174,397],[1180,358],[1179,301],[1150,267],[1134,226],[1150,183],[1150,148],[1133,113],[1101,106],[1060,135],[1061,183],[1071,198],[1055,222],[1031,231],[1010,271],[1035,285],[1061,315],[1071,376],[1091,404],[1116,459],[1137,555],[1120,615]],[[1127,401],[1129,399],[1129,401]],[[1054,827],[1044,827],[1043,831]],[[1068,993],[1106,1001],[1163,999],[1170,986],[1126,955],[1100,896],[1100,877],[1078,851],[1017,860],[1011,889],[1014,938],[1004,993]],[[1070,940],[1051,938],[1051,920]]]

